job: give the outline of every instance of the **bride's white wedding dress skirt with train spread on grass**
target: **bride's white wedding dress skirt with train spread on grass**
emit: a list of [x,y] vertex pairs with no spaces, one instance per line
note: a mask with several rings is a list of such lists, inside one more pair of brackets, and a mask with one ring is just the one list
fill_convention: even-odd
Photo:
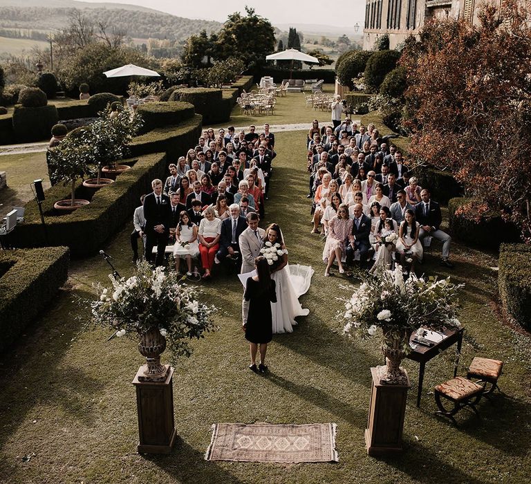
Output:
[[292,333],[297,324],[295,317],[308,316],[309,309],[303,309],[299,297],[308,291],[314,270],[310,266],[290,266],[271,275],[277,284],[277,302],[271,303],[273,334]]

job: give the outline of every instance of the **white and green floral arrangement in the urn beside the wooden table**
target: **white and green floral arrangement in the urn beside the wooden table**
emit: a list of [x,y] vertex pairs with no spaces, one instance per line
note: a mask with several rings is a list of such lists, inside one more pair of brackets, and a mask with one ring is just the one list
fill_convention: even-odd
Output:
[[404,351],[410,351],[409,335],[420,326],[440,330],[457,329],[458,292],[463,284],[450,278],[421,279],[411,273],[404,281],[402,267],[380,268],[366,279],[345,301],[339,318],[346,321],[344,334],[373,336],[382,328],[384,339],[400,339]]

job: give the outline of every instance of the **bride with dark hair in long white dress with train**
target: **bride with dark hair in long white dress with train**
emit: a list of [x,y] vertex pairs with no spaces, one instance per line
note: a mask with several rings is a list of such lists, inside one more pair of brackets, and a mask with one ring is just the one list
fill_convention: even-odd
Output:
[[288,265],[288,250],[282,232],[276,223],[272,223],[265,230],[263,248],[274,246],[275,243],[280,245],[277,260],[269,259],[271,279],[276,283],[277,290],[277,302],[271,303],[273,333],[292,333],[293,326],[297,324],[295,317],[310,313],[309,309],[302,308],[299,297],[310,288],[314,271],[310,266]]

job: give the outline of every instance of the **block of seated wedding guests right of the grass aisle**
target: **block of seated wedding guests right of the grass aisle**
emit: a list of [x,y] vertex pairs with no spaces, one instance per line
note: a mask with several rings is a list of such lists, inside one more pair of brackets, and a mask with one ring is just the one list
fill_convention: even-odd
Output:
[[[318,129],[317,124],[313,122],[308,138],[317,135],[312,132]],[[348,119],[345,124],[350,124]],[[332,127],[326,127],[326,140],[334,136],[330,131]],[[363,133],[365,128],[361,126],[357,134]],[[358,138],[354,138],[355,142]],[[359,260],[360,266],[366,268],[373,252],[375,264],[371,270],[387,267],[394,251],[400,254],[402,268],[407,274],[406,263],[410,264],[409,271],[414,271],[416,261],[422,263],[421,241],[426,236],[443,242],[440,263],[453,267],[448,260],[451,238],[440,230],[440,206],[431,200],[429,189],[420,187],[416,177],[410,176],[400,150],[395,145],[388,148],[379,136],[374,138],[368,151],[354,147],[350,157],[335,139],[328,151],[328,146],[309,140],[308,196],[313,198],[311,233],[317,234],[323,227],[325,275],[330,275],[334,261],[340,273],[345,272],[344,263],[351,266],[354,260]]]

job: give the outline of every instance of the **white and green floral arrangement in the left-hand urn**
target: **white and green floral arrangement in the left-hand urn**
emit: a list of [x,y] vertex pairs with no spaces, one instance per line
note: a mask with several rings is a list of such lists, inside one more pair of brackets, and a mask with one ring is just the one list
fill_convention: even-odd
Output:
[[140,262],[129,279],[116,280],[109,275],[112,288],[97,286],[97,300],[91,302],[93,322],[111,326],[115,335],[136,333],[141,336],[153,326],[167,338],[174,357],[189,356],[190,339],[214,331],[215,306],[196,299],[197,288],[186,286],[176,272],[166,272]]

